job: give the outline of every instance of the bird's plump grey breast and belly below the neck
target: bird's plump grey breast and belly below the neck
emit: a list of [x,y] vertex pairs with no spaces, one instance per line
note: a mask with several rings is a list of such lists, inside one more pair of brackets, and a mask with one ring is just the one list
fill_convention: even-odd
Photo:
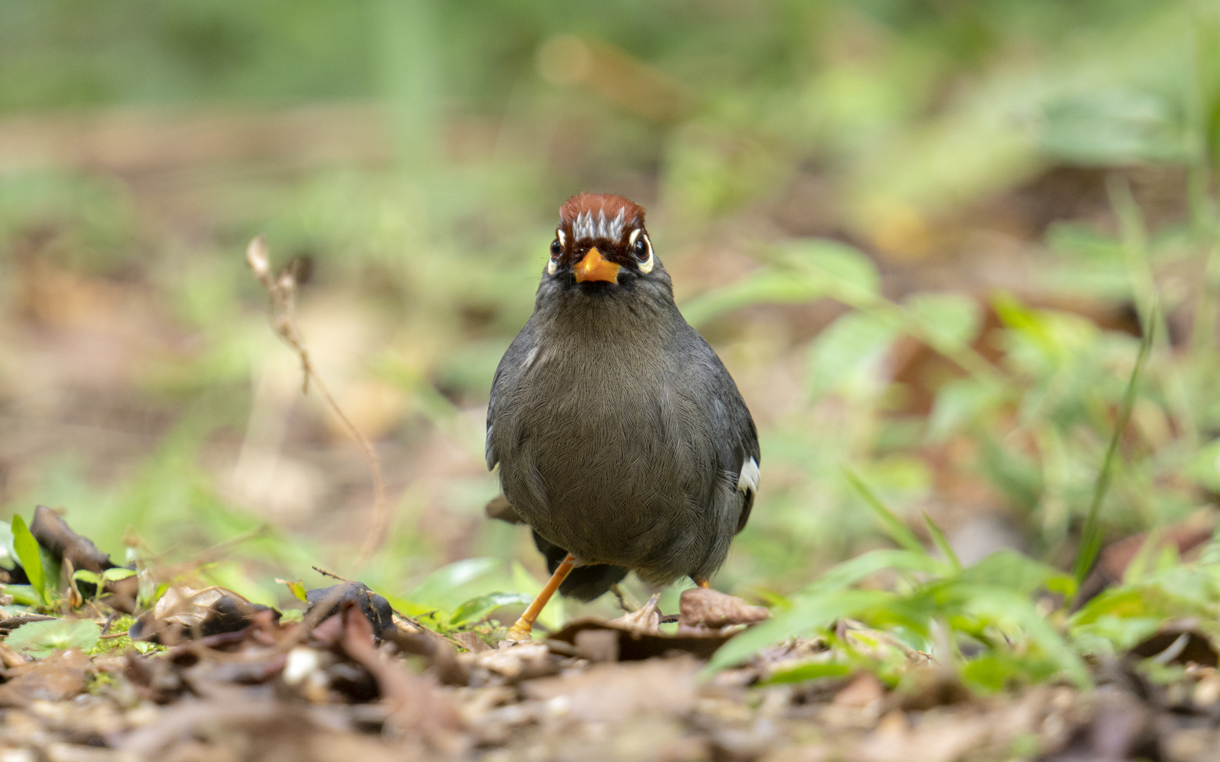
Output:
[[654,583],[709,577],[744,499],[716,451],[726,382],[744,405],[715,354],[677,321],[630,340],[527,326],[498,371],[488,421],[489,466],[494,452],[504,494],[528,524],[582,561]]

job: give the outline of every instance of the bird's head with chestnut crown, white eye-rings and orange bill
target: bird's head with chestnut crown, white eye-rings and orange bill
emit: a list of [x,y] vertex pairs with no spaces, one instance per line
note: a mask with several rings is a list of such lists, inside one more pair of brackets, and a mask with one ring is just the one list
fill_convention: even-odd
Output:
[[644,229],[644,207],[622,196],[582,193],[559,208],[547,276],[586,293],[633,288],[669,278]]

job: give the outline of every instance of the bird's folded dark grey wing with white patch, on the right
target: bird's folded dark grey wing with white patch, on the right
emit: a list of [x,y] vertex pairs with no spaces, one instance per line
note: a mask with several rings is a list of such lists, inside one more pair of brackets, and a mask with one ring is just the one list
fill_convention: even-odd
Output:
[[736,529],[736,532],[741,532],[750,517],[754,496],[759,489],[759,463],[762,462],[762,455],[759,450],[759,433],[725,363],[720,361],[720,357],[702,336],[698,344],[703,345],[700,347],[703,351],[699,352],[703,355],[700,360],[712,369],[710,423],[716,446],[717,466],[720,472],[736,485],[742,497]]

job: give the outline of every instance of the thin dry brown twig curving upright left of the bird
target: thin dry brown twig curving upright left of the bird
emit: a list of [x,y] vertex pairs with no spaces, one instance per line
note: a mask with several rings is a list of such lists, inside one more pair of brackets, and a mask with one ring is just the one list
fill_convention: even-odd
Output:
[[312,379],[314,386],[322,394],[322,399],[326,400],[327,406],[339,418],[343,429],[360,446],[368,463],[368,472],[373,480],[373,516],[368,524],[368,532],[365,534],[365,539],[360,544],[360,550],[356,552],[356,566],[360,566],[381,549],[387,529],[389,528],[390,516],[389,506],[386,501],[386,479],[382,477],[381,460],[378,460],[377,451],[372,444],[351,423],[348,416],[344,415],[339,404],[331,396],[326,384],[322,383],[322,378],[317,374],[317,371],[314,369],[309,349],[305,346],[305,338],[296,328],[296,269],[289,266],[281,271],[279,274],[272,276],[271,255],[267,251],[267,239],[264,235],[259,235],[250,241],[250,245],[245,250],[245,261],[254,272],[254,277],[259,279],[259,283],[262,284],[271,297],[271,324],[276,330],[276,335],[293,347],[298,357],[300,357],[301,394],[309,393],[309,384]]

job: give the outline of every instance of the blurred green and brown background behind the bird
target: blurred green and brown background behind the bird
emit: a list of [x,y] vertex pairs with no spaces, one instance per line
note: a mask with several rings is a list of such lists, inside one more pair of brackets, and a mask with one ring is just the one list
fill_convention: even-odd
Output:
[[[648,207],[761,430],[719,588],[884,544],[843,466],[964,561],[1066,567],[1154,302],[1102,517],[1210,521],[1218,143],[1215,2],[7,0],[0,502],[116,558],[262,527],[203,574],[266,602],[310,564],[529,593],[483,417],[592,190]],[[266,323],[259,233],[314,260],[301,329],[383,463],[364,564],[367,468]]]

